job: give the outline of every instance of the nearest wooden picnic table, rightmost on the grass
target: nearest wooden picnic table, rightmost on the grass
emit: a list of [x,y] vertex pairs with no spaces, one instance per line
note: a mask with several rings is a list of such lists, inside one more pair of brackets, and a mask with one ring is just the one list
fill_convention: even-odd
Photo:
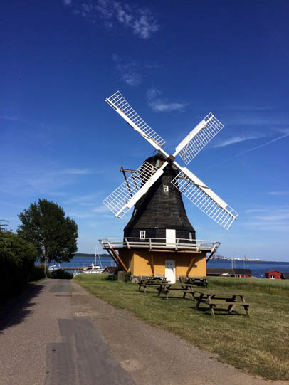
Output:
[[[236,306],[241,306],[246,311],[246,315],[249,315],[250,303],[245,301],[244,295],[236,292],[221,292],[216,290],[207,289],[192,289],[194,294],[199,294],[199,297],[194,296],[196,300],[196,310],[199,310],[199,305],[204,303],[209,305],[211,316],[215,318],[214,307],[221,306],[227,307],[228,313],[231,313]],[[238,300],[237,300],[238,298]]]

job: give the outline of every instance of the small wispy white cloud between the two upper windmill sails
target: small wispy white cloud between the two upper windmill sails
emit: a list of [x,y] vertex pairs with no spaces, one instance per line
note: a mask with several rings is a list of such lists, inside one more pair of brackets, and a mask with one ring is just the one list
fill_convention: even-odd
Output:
[[184,102],[169,102],[169,100],[161,97],[162,92],[157,88],[150,88],[147,90],[147,103],[154,112],[172,112],[184,111],[188,103]]

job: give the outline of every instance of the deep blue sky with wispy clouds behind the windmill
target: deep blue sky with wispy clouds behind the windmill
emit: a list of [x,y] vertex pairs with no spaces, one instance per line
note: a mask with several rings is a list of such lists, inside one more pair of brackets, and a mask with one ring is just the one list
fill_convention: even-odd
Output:
[[[189,164],[238,211],[226,231],[186,198],[196,238],[228,257],[289,261],[288,1],[4,1],[0,218],[38,198],[78,250],[121,237],[103,199],[152,147],[107,103],[120,92],[174,147],[208,112],[225,128]],[[179,162],[181,163],[181,162]]]

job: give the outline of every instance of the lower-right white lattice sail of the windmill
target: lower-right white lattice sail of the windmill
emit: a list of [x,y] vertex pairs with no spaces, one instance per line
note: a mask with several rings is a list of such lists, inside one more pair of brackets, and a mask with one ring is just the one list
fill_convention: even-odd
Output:
[[209,218],[228,230],[233,221],[236,220],[238,213],[189,169],[186,167],[178,168],[181,171],[172,180],[172,184],[201,211],[204,211]]

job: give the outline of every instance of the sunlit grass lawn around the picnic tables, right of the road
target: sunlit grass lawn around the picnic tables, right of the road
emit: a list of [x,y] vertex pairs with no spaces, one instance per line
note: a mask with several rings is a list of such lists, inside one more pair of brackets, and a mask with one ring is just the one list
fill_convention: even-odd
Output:
[[[289,280],[258,278],[213,278],[209,288],[243,292],[251,318],[243,307],[231,315],[209,307],[194,309],[196,302],[179,297],[169,301],[157,297],[157,290],[138,292],[135,283],[110,281],[100,274],[74,278],[93,295],[128,310],[140,319],[179,335],[197,347],[219,354],[222,362],[272,380],[289,380]],[[177,285],[177,284],[176,284]]]

